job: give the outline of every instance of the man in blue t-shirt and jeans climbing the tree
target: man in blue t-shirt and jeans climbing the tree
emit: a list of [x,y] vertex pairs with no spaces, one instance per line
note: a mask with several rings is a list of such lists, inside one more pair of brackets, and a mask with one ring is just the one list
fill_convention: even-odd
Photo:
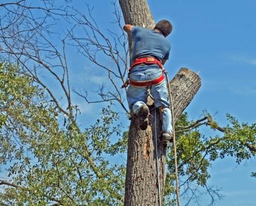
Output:
[[149,109],[146,102],[147,90],[150,90],[155,99],[155,107],[162,114],[162,141],[168,144],[172,141],[172,116],[162,65],[169,58],[171,45],[165,38],[172,32],[172,24],[161,20],[153,30],[126,24],[124,30],[130,32],[133,39],[128,80],[130,85],[127,91],[129,107],[139,116],[140,128],[147,129]]

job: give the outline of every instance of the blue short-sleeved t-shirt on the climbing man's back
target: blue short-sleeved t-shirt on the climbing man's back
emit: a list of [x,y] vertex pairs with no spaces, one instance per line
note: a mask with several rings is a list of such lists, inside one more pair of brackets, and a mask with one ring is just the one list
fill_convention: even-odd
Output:
[[159,32],[152,29],[133,26],[131,29],[133,48],[132,60],[139,56],[153,56],[160,62],[169,59],[171,44]]

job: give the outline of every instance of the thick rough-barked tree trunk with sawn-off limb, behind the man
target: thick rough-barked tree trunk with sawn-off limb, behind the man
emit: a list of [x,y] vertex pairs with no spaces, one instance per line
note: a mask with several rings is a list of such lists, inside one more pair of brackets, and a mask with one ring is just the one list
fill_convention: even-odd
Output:
[[[147,28],[154,27],[155,21],[150,13],[146,0],[119,0],[119,4],[121,5],[126,24],[144,26]],[[129,46],[131,49],[131,41],[129,42]],[[178,116],[188,106],[195,93],[199,90],[201,80],[200,77],[191,70],[182,68],[172,79],[170,85],[174,119],[176,121]],[[128,138],[125,206],[159,205],[154,144],[154,119],[157,121],[157,148],[161,195],[164,191],[165,153],[167,146],[160,144],[159,141],[161,135],[159,111],[157,110],[155,116],[153,101],[148,100],[147,104],[149,105],[150,114],[153,116],[149,119],[147,130],[140,130],[138,118],[133,117],[131,119]]]

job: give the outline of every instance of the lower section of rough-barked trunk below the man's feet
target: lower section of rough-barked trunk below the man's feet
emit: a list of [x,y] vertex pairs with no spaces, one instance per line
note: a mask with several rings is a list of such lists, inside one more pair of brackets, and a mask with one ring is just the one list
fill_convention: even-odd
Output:
[[[150,113],[154,114],[154,106],[150,107]],[[159,123],[159,112],[157,112],[156,119]],[[157,124],[158,134],[160,133],[160,126],[161,124]],[[138,118],[132,118],[126,165],[125,205],[127,206],[158,205],[154,132],[154,118],[150,118],[150,126],[145,131],[140,130]],[[167,147],[158,145],[159,172],[163,190]]]

